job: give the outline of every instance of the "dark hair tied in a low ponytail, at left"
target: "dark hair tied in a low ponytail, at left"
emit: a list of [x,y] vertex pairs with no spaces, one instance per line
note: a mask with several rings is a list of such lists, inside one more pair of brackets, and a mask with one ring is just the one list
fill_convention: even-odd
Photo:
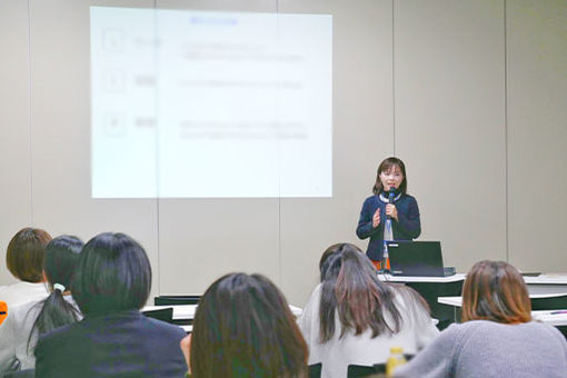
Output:
[[73,305],[64,300],[63,292],[59,286],[58,288],[53,288],[53,286],[56,284],[62,285],[64,288],[71,286],[71,278],[74,273],[82,245],[79,238],[68,235],[57,237],[47,245],[43,271],[52,291],[49,297],[36,305],[40,306],[41,310],[31,328],[28,348],[36,332],[39,336],[79,319],[80,312]]

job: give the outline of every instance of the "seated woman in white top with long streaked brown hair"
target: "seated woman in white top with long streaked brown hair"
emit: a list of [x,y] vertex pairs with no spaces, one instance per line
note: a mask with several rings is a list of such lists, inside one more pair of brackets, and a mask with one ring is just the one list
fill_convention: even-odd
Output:
[[390,347],[416,354],[437,337],[425,300],[408,287],[381,282],[358,247],[338,245],[321,276],[298,319],[309,365],[322,364],[321,377],[347,377],[348,365],[385,364]]

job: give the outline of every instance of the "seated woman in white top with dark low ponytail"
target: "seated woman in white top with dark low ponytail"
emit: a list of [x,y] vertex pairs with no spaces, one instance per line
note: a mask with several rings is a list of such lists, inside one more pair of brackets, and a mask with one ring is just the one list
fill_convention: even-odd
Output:
[[81,248],[82,241],[71,236],[60,236],[48,243],[43,272],[51,294],[47,299],[10,307],[0,327],[0,374],[14,367],[33,369],[38,335],[79,320],[69,287]]

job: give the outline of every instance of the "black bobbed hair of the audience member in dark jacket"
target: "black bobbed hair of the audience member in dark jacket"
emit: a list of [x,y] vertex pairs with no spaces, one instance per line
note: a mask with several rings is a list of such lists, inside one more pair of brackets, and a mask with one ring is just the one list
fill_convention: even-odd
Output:
[[129,236],[97,235],[82,248],[71,288],[84,315],[140,309],[150,294],[150,261]]

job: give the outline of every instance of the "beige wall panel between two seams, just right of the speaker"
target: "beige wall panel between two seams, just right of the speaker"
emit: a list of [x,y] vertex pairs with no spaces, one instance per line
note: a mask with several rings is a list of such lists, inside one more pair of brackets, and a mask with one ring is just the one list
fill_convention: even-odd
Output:
[[396,153],[446,263],[506,259],[504,3],[395,2]]

